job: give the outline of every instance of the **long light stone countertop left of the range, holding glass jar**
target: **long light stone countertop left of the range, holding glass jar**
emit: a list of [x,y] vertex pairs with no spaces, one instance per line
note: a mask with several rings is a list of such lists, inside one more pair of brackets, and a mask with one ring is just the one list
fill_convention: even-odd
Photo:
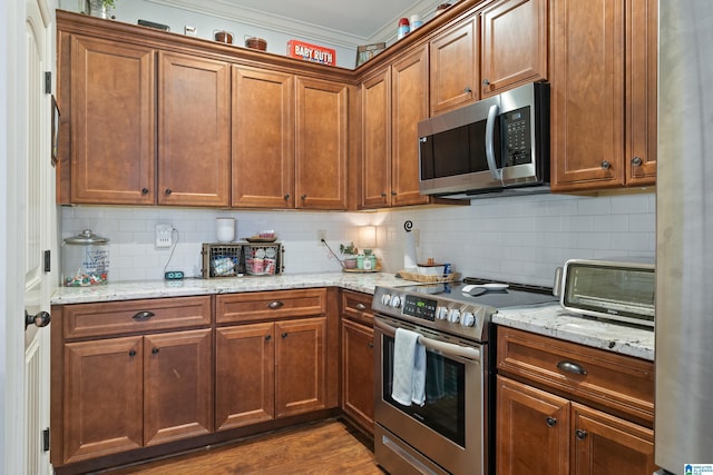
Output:
[[176,281],[141,280],[111,283],[94,287],[60,287],[50,297],[52,305],[96,301],[134,300],[141,298],[180,297],[191,295],[233,294],[257,290],[287,290],[310,287],[341,287],[373,294],[378,285],[398,286],[412,283],[387,273],[319,273],[287,274],[267,277],[222,277]]

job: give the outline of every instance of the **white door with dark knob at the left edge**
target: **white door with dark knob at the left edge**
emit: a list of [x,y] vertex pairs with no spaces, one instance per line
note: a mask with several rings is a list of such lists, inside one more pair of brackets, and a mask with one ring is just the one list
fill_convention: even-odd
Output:
[[[25,160],[19,167],[22,189],[18,190],[22,206],[18,222],[19,253],[25,255],[25,310],[35,316],[25,330],[25,384],[22,424],[23,469],[28,475],[51,473],[46,431],[49,429],[49,321],[50,273],[45,253],[51,248],[53,171],[51,166],[51,82],[46,86],[46,72],[51,71],[51,13],[46,0],[26,2],[25,91],[26,141]],[[23,226],[21,225],[23,224]],[[51,267],[51,264],[50,264]],[[47,438],[46,438],[47,437]]]

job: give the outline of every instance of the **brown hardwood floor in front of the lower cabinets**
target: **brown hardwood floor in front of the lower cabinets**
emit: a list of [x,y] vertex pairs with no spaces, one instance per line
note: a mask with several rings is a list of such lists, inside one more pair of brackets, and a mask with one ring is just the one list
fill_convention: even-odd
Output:
[[371,445],[349,425],[330,419],[104,474],[383,475]]

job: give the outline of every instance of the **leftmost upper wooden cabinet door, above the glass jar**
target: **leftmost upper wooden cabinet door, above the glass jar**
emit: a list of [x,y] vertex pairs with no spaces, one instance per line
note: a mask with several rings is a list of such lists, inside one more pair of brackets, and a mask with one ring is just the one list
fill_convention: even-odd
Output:
[[155,204],[155,52],[71,40],[70,201]]

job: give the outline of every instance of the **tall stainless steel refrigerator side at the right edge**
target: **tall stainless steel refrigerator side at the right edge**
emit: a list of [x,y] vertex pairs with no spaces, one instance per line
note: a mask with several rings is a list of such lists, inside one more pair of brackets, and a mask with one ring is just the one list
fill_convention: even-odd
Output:
[[655,463],[713,464],[713,2],[660,1]]

